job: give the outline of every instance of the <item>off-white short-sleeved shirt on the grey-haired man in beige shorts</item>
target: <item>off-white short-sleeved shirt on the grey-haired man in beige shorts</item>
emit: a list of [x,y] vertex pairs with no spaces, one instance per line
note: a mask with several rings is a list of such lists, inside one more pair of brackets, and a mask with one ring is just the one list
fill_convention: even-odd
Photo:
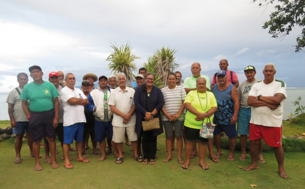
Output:
[[[134,93],[135,90],[133,88],[126,87],[125,91],[123,92],[120,87],[117,87],[111,92],[108,104],[115,106],[115,108],[120,112],[128,114],[131,108],[134,106]],[[113,113],[112,125],[114,127],[134,126],[136,124],[136,114],[132,114],[131,119],[127,124],[124,124],[123,121],[123,117]]]

